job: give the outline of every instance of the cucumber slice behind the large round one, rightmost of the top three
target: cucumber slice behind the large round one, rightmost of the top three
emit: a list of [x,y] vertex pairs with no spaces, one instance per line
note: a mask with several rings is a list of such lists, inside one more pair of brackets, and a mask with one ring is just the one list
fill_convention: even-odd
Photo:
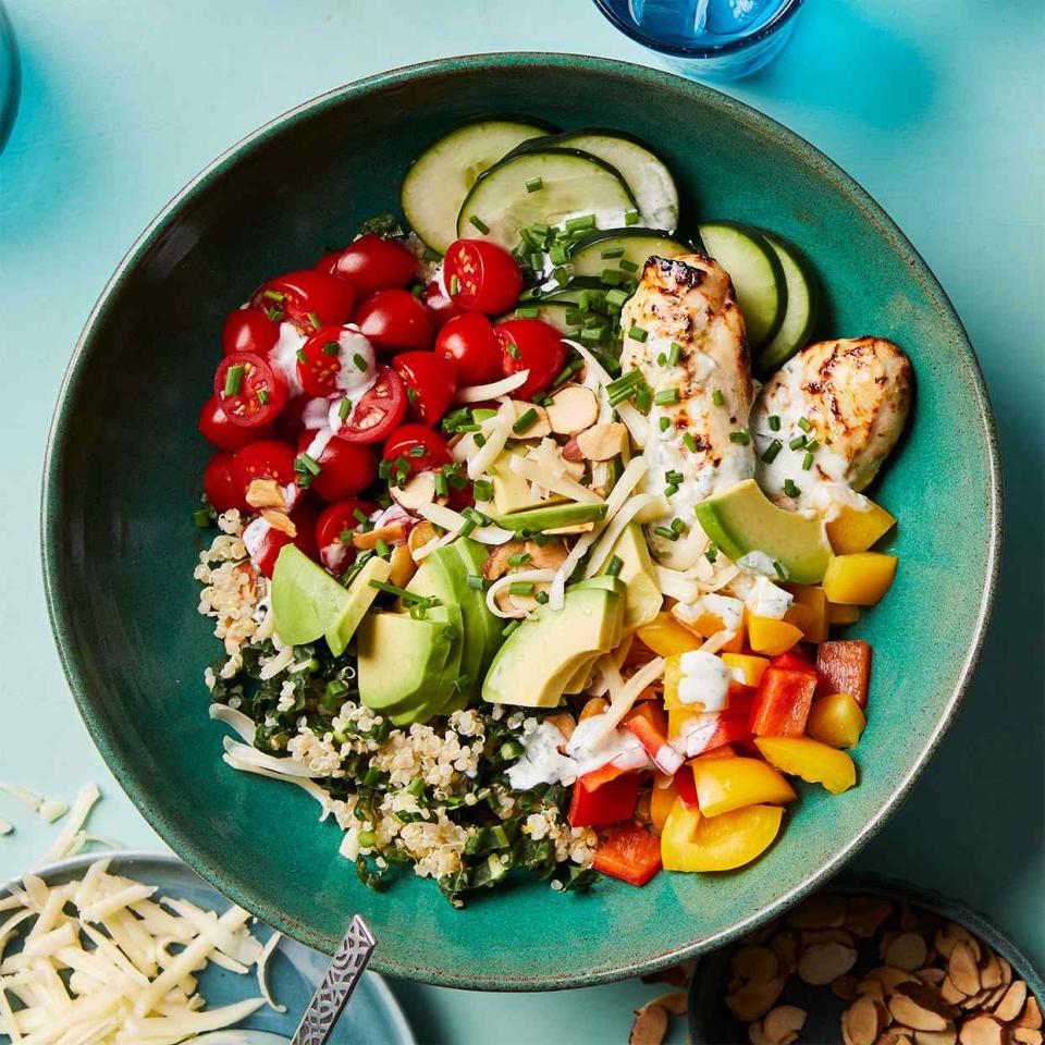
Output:
[[678,228],[678,189],[675,180],[663,160],[651,152],[641,142],[618,131],[592,127],[582,131],[565,131],[536,142],[524,144],[517,152],[530,152],[534,148],[581,149],[605,160],[620,172],[638,202],[639,220],[651,229],[674,232]]

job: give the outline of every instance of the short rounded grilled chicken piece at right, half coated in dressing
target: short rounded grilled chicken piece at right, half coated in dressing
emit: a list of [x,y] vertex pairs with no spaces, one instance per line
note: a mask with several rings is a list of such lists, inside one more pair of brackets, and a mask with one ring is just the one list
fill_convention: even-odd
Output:
[[861,504],[855,491],[900,438],[912,384],[910,360],[884,337],[803,348],[765,383],[751,414],[759,485],[784,508],[829,513]]

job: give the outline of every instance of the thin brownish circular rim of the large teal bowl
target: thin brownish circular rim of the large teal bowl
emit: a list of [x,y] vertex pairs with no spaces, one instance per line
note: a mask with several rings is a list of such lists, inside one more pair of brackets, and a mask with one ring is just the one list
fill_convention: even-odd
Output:
[[932,300],[938,315],[938,321],[947,329],[950,339],[960,351],[963,357],[962,362],[968,371],[969,380],[972,383],[976,413],[986,448],[989,504],[987,516],[989,538],[986,549],[986,568],[980,605],[976,611],[969,650],[960,665],[957,681],[950,696],[947,698],[943,714],[926,738],[925,745],[918,758],[905,775],[896,783],[887,799],[863,825],[862,829],[856,834],[846,846],[822,861],[820,865],[810,869],[802,881],[790,892],[779,897],[771,906],[758,908],[747,918],[724,926],[706,937],[691,941],[688,944],[665,951],[637,955],[613,964],[600,967],[597,970],[567,969],[561,973],[545,976],[528,975],[525,971],[516,975],[491,974],[484,976],[469,972],[457,972],[443,968],[442,966],[422,967],[413,964],[408,960],[405,961],[391,957],[388,951],[382,952],[381,948],[378,949],[372,961],[372,967],[376,971],[440,986],[479,991],[548,991],[612,983],[628,976],[643,975],[666,968],[667,966],[676,964],[693,955],[713,950],[750,931],[755,925],[775,917],[823,882],[831,878],[881,831],[882,826],[907,796],[914,782],[927,765],[932,754],[939,746],[948,726],[954,721],[958,706],[961,703],[980,661],[997,593],[1003,534],[1000,452],[983,373],[961,320],[932,270],[893,219],[889,218],[863,187],[843,171],[840,167],[821,152],[815,146],[771,116],[714,88],[644,65],[588,54],[545,51],[502,51],[487,54],[466,54],[434,59],[377,73],[372,76],[355,81],[341,87],[335,87],[318,95],[275,116],[273,120],[270,120],[268,123],[265,123],[256,131],[246,135],[193,177],[169,200],[157,217],[147,225],[145,231],[127,250],[126,255],[124,255],[104,288],[101,291],[73,349],[59,390],[51,420],[41,482],[40,550],[48,616],[62,663],[62,669],[73,693],[73,698],[79,709],[81,716],[87,726],[87,730],[121,787],[123,787],[124,791],[126,791],[138,811],[145,816],[146,821],[157,834],[202,878],[220,889],[236,903],[249,909],[251,913],[256,914],[269,925],[294,936],[310,947],[323,950],[327,954],[333,954],[339,943],[333,934],[317,931],[309,925],[292,920],[278,906],[270,903],[260,895],[259,889],[251,883],[241,883],[229,880],[220,864],[212,862],[210,856],[202,848],[189,837],[185,836],[179,827],[172,823],[165,812],[152,803],[146,788],[139,785],[136,767],[123,761],[119,752],[119,746],[114,742],[114,737],[107,733],[102,717],[98,715],[94,706],[89,686],[87,685],[86,673],[76,662],[73,652],[74,643],[71,641],[71,634],[73,631],[72,600],[70,598],[67,581],[61,575],[61,556],[57,554],[57,549],[60,545],[62,537],[60,462],[63,444],[67,438],[67,406],[72,402],[77,385],[83,380],[83,374],[94,347],[93,335],[95,329],[108,314],[112,298],[121,290],[123,283],[142,256],[150,249],[157,236],[169,222],[176,218],[182,205],[207,187],[228,165],[237,160],[242,155],[261,145],[270,136],[278,134],[284,126],[293,124],[302,116],[323,111],[331,106],[351,102],[353,99],[372,91],[394,87],[417,78],[439,75],[441,73],[482,73],[507,67],[545,70],[549,67],[565,67],[570,70],[579,67],[587,73],[594,73],[603,78],[627,79],[632,86],[638,82],[649,85],[650,87],[681,91],[699,104],[718,109],[728,118],[745,125],[749,132],[772,142],[775,148],[785,149],[806,164],[812,165],[821,177],[827,180],[840,195],[848,198],[850,204],[861,212],[864,219],[886,239],[890,248],[906,262],[912,278],[922,285],[927,297]]

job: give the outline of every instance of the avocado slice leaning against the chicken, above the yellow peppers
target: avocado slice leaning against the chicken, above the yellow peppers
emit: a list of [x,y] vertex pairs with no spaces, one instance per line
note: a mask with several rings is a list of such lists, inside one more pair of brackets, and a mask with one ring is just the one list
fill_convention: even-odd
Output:
[[701,501],[696,511],[703,531],[733,562],[759,554],[779,563],[796,585],[824,579],[833,554],[824,520],[778,508],[753,479]]

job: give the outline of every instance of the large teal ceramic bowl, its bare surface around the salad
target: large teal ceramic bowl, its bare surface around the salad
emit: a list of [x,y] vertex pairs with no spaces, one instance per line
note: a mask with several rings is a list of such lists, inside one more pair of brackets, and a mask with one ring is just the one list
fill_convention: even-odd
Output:
[[[736,874],[662,874],[588,896],[522,881],[454,910],[431,882],[368,893],[304,794],[230,771],[207,718],[218,647],[196,613],[196,433],[221,321],[273,272],[310,265],[394,208],[410,160],[456,123],[526,112],[612,125],[676,173],[684,228],[764,225],[825,286],[823,330],[903,345],[919,378],[905,445],[876,496],[900,518],[899,576],[857,634],[875,647],[860,786],[803,788],[780,839]],[[602,59],[494,54],[334,90],[239,143],[146,230],[95,307],[61,391],[46,464],[44,568],[54,634],[91,736],[159,834],[263,921],[332,950],[349,912],[379,971],[543,989],[648,972],[750,929],[836,871],[896,809],[975,665],[994,592],[1000,480],[986,392],[961,323],[914,248],[814,148],[706,87]]]

